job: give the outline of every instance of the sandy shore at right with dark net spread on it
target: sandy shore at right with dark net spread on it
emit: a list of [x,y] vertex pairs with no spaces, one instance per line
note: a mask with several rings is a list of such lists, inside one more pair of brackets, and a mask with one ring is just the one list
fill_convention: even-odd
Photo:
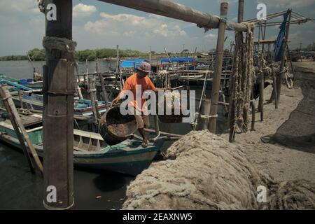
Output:
[[[315,62],[297,62],[294,66],[297,86],[283,86],[279,109],[266,104],[264,121],[260,122],[256,113],[255,132],[237,134],[236,144],[248,146],[248,160],[276,181],[315,182]],[[271,90],[265,89],[265,99],[269,99]],[[277,137],[265,144],[261,138],[266,136],[281,136],[283,141]],[[222,137],[228,139],[228,134]]]

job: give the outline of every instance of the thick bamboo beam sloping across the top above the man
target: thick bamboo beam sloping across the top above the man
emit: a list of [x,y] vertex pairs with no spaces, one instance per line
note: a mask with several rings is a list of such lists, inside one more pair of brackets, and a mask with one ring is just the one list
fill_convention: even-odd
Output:
[[[209,15],[208,13],[202,13],[198,10],[183,6],[179,3],[169,0],[99,0],[107,3],[112,3],[118,6],[125,6],[127,8],[133,8],[141,10],[146,13],[153,13],[157,15],[166,16],[168,18],[174,18],[177,20],[183,20],[186,22],[192,22],[199,27],[207,29],[213,29],[219,27],[220,18]],[[229,21],[229,29],[235,29],[236,31],[246,31],[246,25],[238,24]]]

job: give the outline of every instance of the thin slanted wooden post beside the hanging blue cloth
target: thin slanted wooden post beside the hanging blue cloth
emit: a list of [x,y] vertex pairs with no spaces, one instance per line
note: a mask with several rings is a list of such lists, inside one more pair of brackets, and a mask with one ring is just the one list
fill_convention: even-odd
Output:
[[290,22],[291,22],[291,11],[292,9],[288,9],[288,23],[286,25],[286,37],[285,40],[283,41],[283,46],[282,46],[282,50],[281,50],[281,64],[280,64],[280,76],[276,82],[276,87],[278,88],[276,90],[277,92],[277,103],[279,104],[280,102],[280,93],[281,93],[281,86],[282,86],[282,82],[283,82],[283,69],[284,66],[286,64],[286,43],[288,43],[288,34],[289,34],[289,29],[290,29]]

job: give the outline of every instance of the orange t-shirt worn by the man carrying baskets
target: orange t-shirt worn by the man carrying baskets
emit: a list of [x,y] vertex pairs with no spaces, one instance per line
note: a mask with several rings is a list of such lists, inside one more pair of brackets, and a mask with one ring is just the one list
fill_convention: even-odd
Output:
[[[138,92],[138,94],[141,94],[141,105],[137,105],[137,85],[141,86],[141,92]],[[132,91],[132,94],[134,94],[134,101],[133,106],[135,109],[138,109],[139,111],[143,111],[142,110],[142,106],[144,105],[144,103],[146,102],[146,99],[142,98],[142,94],[146,91],[146,90],[154,90],[155,86],[153,85],[152,81],[150,78],[148,78],[148,76],[144,77],[144,78],[139,78],[137,76],[137,73],[134,73],[132,76],[130,76],[129,78],[127,78],[125,85],[123,87],[123,90],[130,90]],[[140,90],[140,88],[139,88]]]

